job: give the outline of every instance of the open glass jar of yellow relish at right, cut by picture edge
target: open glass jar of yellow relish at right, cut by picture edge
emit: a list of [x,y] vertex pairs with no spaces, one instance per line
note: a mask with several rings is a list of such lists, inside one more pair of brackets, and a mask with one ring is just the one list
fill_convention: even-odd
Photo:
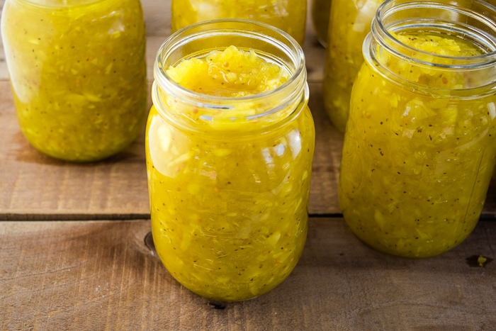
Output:
[[371,247],[432,257],[475,228],[495,167],[495,18],[478,0],[378,9],[339,174],[346,223]]

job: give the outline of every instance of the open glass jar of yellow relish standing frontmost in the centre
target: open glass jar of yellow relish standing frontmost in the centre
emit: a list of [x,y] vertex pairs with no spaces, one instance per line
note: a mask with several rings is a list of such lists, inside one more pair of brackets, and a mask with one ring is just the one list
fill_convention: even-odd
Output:
[[[274,72],[287,72],[283,84],[253,94]],[[162,263],[206,298],[266,293],[307,235],[315,130],[303,50],[264,23],[197,23],[160,47],[154,79],[145,145]]]

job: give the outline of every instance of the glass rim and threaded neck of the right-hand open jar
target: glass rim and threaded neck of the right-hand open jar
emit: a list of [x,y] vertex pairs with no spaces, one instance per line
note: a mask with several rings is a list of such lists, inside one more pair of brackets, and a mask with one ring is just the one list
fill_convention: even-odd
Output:
[[[366,64],[390,82],[418,92],[463,98],[494,94],[496,7],[480,0],[470,0],[471,6],[463,6],[463,1],[384,1],[373,18],[371,32],[363,40]],[[478,48],[481,54],[458,57],[419,50],[394,36],[402,33],[459,38]],[[422,72],[424,77],[442,77],[449,72],[464,77],[465,83],[447,84],[445,79],[419,82],[417,78]],[[446,85],[436,84],[441,81]]]

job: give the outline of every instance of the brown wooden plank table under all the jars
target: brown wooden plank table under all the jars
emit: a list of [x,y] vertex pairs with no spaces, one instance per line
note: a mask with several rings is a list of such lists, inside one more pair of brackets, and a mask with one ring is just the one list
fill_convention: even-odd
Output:
[[[170,0],[142,4],[151,82]],[[154,254],[143,137],[93,164],[40,154],[18,128],[1,52],[0,330],[496,330],[496,262],[474,263],[496,258],[496,184],[475,231],[446,254],[363,245],[337,204],[342,135],[322,106],[325,50],[310,20],[304,50],[317,130],[308,242],[281,286],[228,304],[180,286]]]

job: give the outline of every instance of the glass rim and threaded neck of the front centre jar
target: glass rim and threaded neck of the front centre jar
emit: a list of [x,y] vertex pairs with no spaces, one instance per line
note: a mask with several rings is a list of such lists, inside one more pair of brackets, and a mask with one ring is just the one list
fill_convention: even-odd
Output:
[[[212,50],[222,51],[231,45],[235,45],[239,50],[254,50],[257,56],[264,60],[286,68],[290,77],[276,89],[250,96],[231,97],[192,91],[175,82],[167,74],[167,69],[181,60],[206,55]],[[204,21],[176,31],[157,52],[154,80],[152,99],[154,105],[162,108],[160,113],[163,114],[164,109],[170,108],[171,103],[168,101],[174,99],[174,103],[181,103],[186,108],[200,109],[201,115],[196,118],[200,121],[220,120],[219,114],[222,114],[223,120],[239,120],[238,110],[246,108],[247,105],[257,111],[241,116],[242,120],[270,121],[271,116],[274,116],[275,120],[281,112],[291,109],[288,105],[293,105],[294,111],[302,98],[308,99],[305,57],[298,42],[283,30],[266,23],[243,19]]]

